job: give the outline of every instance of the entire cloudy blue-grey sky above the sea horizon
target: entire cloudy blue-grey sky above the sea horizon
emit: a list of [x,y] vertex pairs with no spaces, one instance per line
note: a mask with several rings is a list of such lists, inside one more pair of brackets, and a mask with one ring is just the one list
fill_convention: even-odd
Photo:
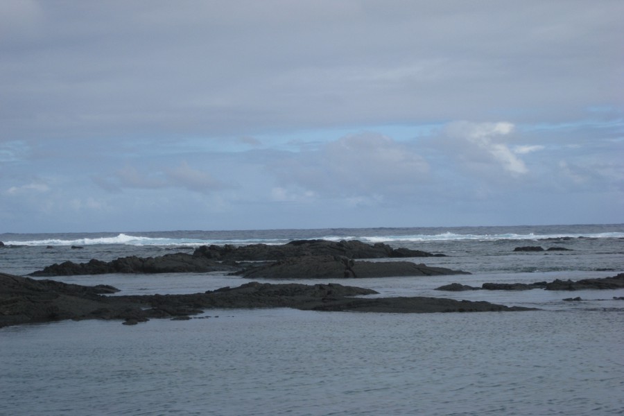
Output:
[[0,0],[0,233],[624,223],[621,0]]

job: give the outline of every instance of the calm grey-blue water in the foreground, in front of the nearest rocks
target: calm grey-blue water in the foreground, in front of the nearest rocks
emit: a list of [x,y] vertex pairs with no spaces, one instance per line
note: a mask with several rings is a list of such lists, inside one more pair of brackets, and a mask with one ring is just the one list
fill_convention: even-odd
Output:
[[2,329],[0,413],[624,412],[620,312],[206,315]]

